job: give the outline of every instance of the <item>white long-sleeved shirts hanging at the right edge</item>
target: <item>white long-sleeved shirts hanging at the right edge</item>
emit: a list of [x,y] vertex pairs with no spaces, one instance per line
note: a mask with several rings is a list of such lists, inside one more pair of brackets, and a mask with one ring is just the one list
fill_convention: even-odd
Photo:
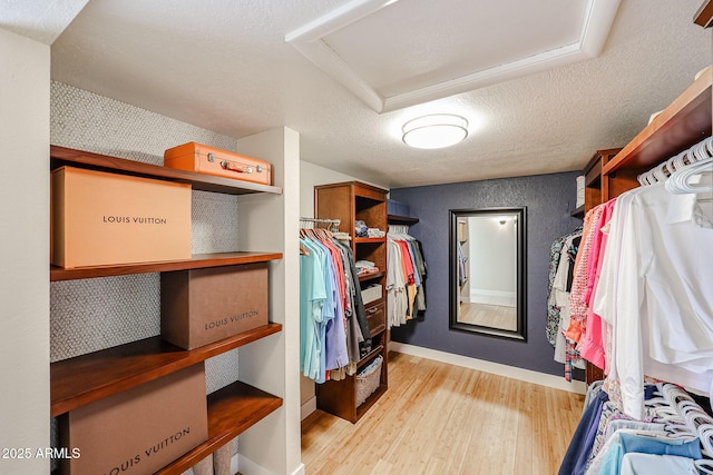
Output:
[[[614,205],[594,313],[607,321],[611,379],[639,418],[644,375],[713,393],[713,210],[664,184]],[[704,264],[705,263],[705,264]]]

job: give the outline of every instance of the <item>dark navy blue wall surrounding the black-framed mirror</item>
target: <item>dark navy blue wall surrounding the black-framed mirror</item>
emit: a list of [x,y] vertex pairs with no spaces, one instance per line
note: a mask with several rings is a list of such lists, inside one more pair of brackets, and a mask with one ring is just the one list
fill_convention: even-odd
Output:
[[[427,311],[392,328],[394,342],[456,355],[563,375],[545,336],[549,248],[580,219],[575,208],[578,172],[538,175],[449,185],[391,189],[391,199],[409,205],[420,222],[411,235],[423,245],[428,264]],[[448,328],[448,210],[527,207],[527,342],[508,340]]]

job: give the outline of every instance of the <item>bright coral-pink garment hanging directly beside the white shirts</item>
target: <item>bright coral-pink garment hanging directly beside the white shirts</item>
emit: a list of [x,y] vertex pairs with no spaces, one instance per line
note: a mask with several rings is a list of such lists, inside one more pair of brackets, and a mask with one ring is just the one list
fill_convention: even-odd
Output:
[[[587,303],[594,301],[596,294],[596,287],[599,283],[599,276],[602,275],[602,264],[604,263],[604,251],[606,249],[606,241],[608,235],[602,231],[602,228],[609,222],[612,214],[614,212],[614,205],[616,198],[607,201],[604,205],[602,216],[595,227],[595,236],[593,240],[593,251],[589,259],[589,268],[594,271],[589,273],[587,281],[588,294]],[[595,253],[596,249],[596,253]],[[585,325],[585,331],[582,335],[577,350],[579,355],[593,365],[607,372],[606,352],[605,352],[605,338],[606,338],[606,323],[594,313],[593,305],[587,307],[587,321]]]

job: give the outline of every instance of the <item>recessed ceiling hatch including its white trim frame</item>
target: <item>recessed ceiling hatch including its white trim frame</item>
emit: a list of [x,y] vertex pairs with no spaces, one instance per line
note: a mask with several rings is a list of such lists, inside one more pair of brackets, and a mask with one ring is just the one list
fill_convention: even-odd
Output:
[[618,6],[352,0],[285,39],[383,112],[597,57]]

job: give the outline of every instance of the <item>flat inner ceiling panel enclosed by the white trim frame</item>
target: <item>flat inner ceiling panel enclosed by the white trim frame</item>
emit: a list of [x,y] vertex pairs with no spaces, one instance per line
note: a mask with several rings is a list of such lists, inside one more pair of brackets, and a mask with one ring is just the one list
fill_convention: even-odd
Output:
[[[494,68],[579,39],[585,2],[560,0],[540,6],[497,1],[501,10],[495,11],[499,13],[495,18],[481,14],[481,6],[487,2],[453,1],[452,8],[443,9],[431,0],[401,1],[325,39],[349,65],[364,71],[367,81],[384,96]],[[517,17],[530,26],[512,34],[510,19]],[[399,26],[395,31],[394,24]]]

